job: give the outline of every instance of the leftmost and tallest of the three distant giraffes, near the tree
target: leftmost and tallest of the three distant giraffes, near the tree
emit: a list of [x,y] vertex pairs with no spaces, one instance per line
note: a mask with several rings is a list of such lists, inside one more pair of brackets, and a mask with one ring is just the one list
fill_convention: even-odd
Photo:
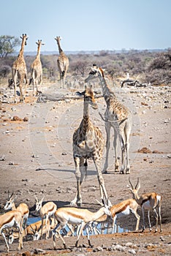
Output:
[[15,103],[16,101],[16,87],[17,83],[19,82],[19,87],[20,87],[20,102],[24,101],[25,94],[26,94],[26,88],[25,92],[23,94],[23,81],[25,80],[26,86],[27,86],[27,69],[26,69],[26,62],[24,61],[23,58],[23,50],[24,50],[24,45],[27,44],[27,35],[23,34],[21,42],[21,48],[20,52],[18,54],[18,58],[15,60],[15,62],[12,64],[12,79],[14,81],[14,89],[15,89]]

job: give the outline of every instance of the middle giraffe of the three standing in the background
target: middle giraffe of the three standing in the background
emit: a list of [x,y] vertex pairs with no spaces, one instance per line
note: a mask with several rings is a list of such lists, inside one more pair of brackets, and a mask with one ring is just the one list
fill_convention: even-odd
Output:
[[33,82],[33,96],[34,96],[34,85],[36,85],[37,87],[37,94],[39,93],[38,83],[42,85],[42,63],[40,61],[40,48],[41,48],[41,45],[45,45],[44,43],[42,43],[42,40],[38,40],[36,44],[38,45],[37,56],[36,56],[36,59],[34,59],[33,64],[31,65],[31,81]]

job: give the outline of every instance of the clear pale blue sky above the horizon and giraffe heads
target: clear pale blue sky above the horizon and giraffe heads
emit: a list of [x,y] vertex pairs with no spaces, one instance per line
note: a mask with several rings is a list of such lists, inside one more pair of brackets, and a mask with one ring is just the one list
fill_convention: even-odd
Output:
[[[171,0],[0,0],[0,35],[28,35],[25,50],[171,47]],[[18,49],[20,50],[20,46]]]

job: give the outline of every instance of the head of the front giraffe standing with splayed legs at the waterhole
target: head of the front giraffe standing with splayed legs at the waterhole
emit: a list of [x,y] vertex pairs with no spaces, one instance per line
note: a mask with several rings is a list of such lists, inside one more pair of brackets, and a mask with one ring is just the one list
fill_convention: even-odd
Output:
[[92,86],[85,86],[85,91],[83,92],[77,92],[78,95],[84,97],[84,102],[91,105],[92,108],[97,109],[98,106],[96,104],[96,100],[94,98],[94,91],[92,89]]

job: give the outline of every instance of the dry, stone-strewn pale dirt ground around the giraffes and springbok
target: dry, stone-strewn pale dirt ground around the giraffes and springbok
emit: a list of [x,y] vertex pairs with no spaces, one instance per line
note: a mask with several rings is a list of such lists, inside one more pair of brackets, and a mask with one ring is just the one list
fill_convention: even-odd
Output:
[[[58,86],[53,84],[44,85],[42,91],[56,98],[58,94],[74,97],[77,90],[58,89]],[[140,230],[134,232],[136,221],[131,214],[129,217],[118,219],[117,224],[124,232],[91,236],[94,248],[88,248],[86,236],[81,236],[77,249],[74,246],[76,238],[66,237],[64,239],[68,249],[63,249],[61,240],[57,240],[57,249],[53,250],[53,241],[49,238],[39,241],[24,240],[20,252],[17,249],[18,243],[15,242],[10,245],[9,253],[6,253],[4,241],[0,236],[0,255],[33,255],[37,248],[43,249],[46,255],[171,255],[170,91],[167,86],[115,89],[117,97],[132,111],[131,174],[114,173],[113,132],[110,168],[107,174],[104,174],[107,193],[113,204],[132,197],[126,187],[129,177],[133,184],[137,182],[137,177],[140,178],[140,193],[158,192],[162,195],[162,233],[154,233],[153,213],[153,230],[149,232],[146,225],[145,232],[141,233],[141,218]],[[12,90],[1,91],[1,213],[4,213],[8,190],[17,195],[16,205],[21,202],[28,204],[30,217],[35,214],[34,195],[38,198],[45,196],[44,202],[53,200],[58,208],[68,205],[76,191],[72,134],[83,116],[83,99],[37,103],[36,97],[31,97],[31,90],[28,90],[25,103],[13,104],[11,95]],[[96,101],[99,111],[104,114],[104,99],[99,97]],[[99,117],[98,111],[90,109],[90,115],[94,124],[102,129],[105,138],[104,121]],[[146,151],[138,152],[142,148],[146,148]],[[96,199],[100,199],[99,185],[92,161],[88,162],[88,177],[83,182],[82,198],[83,208],[90,211],[99,209],[96,202]],[[142,217],[140,208],[138,213]]]

